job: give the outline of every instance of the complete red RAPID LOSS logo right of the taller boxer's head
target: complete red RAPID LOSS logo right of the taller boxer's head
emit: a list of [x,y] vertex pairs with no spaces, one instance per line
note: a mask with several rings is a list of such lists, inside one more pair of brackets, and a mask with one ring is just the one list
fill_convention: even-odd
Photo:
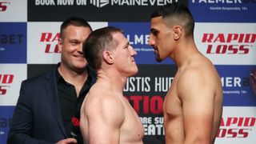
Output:
[[256,41],[256,34],[203,34],[206,54],[248,54]]

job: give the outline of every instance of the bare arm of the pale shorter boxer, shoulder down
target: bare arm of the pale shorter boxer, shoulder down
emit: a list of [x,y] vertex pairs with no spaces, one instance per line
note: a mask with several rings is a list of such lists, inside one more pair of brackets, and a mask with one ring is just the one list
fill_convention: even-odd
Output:
[[106,94],[102,97],[94,97],[92,101],[86,102],[85,111],[89,125],[90,144],[119,143],[125,110],[118,98]]

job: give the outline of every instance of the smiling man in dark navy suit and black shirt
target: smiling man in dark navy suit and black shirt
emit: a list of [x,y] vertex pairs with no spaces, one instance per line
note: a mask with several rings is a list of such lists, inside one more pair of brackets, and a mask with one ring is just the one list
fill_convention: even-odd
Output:
[[82,143],[80,108],[95,81],[82,54],[91,31],[82,18],[62,23],[61,62],[54,70],[22,82],[7,143]]

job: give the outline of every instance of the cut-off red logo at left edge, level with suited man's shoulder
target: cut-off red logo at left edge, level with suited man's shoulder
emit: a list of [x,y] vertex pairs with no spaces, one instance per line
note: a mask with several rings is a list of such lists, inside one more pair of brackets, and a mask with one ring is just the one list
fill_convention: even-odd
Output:
[[5,95],[14,81],[14,74],[0,74],[0,95]]

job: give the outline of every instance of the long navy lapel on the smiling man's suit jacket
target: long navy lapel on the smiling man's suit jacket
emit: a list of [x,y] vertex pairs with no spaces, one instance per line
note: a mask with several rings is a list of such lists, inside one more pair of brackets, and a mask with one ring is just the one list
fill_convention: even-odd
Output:
[[45,78],[45,86],[46,86],[46,94],[50,101],[51,109],[54,113],[54,117],[58,122],[58,126],[62,130],[62,133],[67,138],[66,129],[62,120],[62,113],[60,110],[59,98],[58,98],[58,88],[57,88],[57,78],[56,71],[53,70],[49,75]]

